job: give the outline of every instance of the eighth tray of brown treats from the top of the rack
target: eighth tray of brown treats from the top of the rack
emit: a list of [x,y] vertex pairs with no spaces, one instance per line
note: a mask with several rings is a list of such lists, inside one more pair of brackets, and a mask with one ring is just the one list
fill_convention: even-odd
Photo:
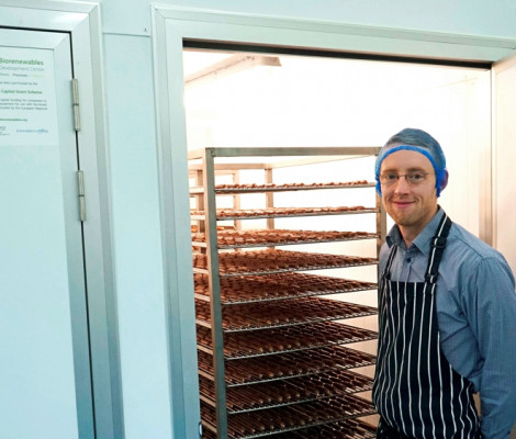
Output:
[[[198,351],[198,359],[199,373],[213,380],[213,356],[200,350]],[[278,356],[244,358],[226,362],[225,382],[227,387],[234,387],[311,375],[335,369],[362,368],[374,364],[375,360],[373,354],[345,346],[329,346]]]

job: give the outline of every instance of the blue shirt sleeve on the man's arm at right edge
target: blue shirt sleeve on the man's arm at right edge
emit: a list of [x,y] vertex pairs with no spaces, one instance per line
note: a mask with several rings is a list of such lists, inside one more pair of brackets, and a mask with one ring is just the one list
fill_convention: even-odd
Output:
[[463,296],[476,335],[481,428],[486,439],[506,439],[516,421],[516,294],[514,277],[500,257],[482,259]]

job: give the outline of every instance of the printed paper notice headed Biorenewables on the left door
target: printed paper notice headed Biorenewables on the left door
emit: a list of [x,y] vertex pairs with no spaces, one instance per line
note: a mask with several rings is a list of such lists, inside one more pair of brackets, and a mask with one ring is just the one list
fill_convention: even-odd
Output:
[[0,46],[0,146],[57,143],[53,52]]

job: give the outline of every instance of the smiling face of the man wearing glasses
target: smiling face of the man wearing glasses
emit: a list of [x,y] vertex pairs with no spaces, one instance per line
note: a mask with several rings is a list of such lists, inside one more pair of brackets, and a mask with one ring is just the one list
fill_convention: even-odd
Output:
[[413,150],[397,150],[382,161],[380,176],[389,172],[403,176],[411,172],[427,173],[424,181],[411,184],[400,177],[391,185],[382,184],[382,201],[389,215],[402,232],[413,238],[425,228],[437,212],[436,176],[430,160]]

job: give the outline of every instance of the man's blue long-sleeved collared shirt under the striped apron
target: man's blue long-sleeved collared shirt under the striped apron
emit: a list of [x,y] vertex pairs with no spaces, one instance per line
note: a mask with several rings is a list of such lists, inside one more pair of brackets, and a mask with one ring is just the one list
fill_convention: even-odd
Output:
[[[424,282],[430,239],[442,215],[439,209],[408,249],[394,226],[380,251],[380,272],[397,246],[391,279]],[[480,392],[483,437],[507,438],[516,421],[514,275],[498,251],[455,223],[439,264],[436,309],[444,354]]]

